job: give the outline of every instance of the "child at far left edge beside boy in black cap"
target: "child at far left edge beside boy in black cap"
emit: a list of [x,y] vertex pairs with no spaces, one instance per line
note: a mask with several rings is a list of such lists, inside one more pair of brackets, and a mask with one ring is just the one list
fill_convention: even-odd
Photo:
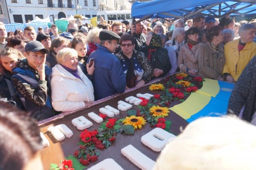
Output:
[[19,109],[24,109],[11,80],[12,69],[16,68],[18,58],[24,58],[24,56],[13,48],[6,48],[0,52],[0,65],[3,67],[3,72],[0,73],[0,98],[13,100]]

